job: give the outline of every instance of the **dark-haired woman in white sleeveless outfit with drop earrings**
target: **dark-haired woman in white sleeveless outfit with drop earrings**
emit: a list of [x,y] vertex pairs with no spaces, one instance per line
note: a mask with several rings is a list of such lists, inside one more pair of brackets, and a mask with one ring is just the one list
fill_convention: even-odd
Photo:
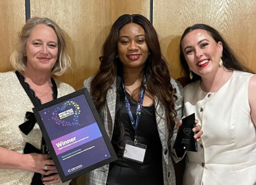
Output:
[[183,184],[255,184],[256,76],[204,24],[184,31],[180,60],[184,116],[196,113],[204,131],[198,152],[186,152]]

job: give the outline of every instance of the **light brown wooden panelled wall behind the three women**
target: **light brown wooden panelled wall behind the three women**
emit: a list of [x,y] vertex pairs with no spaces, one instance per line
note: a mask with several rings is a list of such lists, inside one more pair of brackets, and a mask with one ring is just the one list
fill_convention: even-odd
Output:
[[[65,32],[72,69],[62,81],[76,90],[97,72],[101,46],[112,23],[122,14],[151,16],[150,0],[30,0],[31,17],[49,17]],[[19,44],[25,23],[25,0],[0,0],[0,72],[12,70],[9,57]],[[256,0],[155,0],[152,20],[171,76],[181,78],[179,42],[186,27],[206,23],[228,41],[236,54],[256,72]],[[83,184],[84,178],[72,184]]]

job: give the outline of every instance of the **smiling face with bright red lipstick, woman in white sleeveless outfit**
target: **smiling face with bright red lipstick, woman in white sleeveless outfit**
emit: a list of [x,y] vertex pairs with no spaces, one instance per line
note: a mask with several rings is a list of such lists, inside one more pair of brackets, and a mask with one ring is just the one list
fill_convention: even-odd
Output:
[[189,32],[182,41],[182,51],[190,70],[204,77],[220,68],[222,43],[216,43],[205,30]]

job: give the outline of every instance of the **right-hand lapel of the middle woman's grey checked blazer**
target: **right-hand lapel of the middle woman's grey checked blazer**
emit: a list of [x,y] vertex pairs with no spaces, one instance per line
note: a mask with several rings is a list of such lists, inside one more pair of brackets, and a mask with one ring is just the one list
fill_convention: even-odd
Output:
[[161,102],[157,99],[157,97],[154,97],[155,99],[155,118],[157,121],[157,128],[159,131],[159,137],[162,142],[163,149],[167,148],[167,139],[168,139],[168,130],[166,121],[163,119],[165,118],[165,111],[163,109],[163,106]]

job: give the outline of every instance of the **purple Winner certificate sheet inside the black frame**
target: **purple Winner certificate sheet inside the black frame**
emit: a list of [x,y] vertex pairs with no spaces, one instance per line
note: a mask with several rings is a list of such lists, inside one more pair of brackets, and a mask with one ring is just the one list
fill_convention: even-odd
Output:
[[[70,109],[73,109],[74,112],[80,110],[80,112],[79,114],[70,115],[61,120],[54,120],[53,115],[56,115],[56,112],[58,115],[58,113]],[[65,175],[70,175],[111,157],[84,94],[41,110],[39,114]],[[60,124],[60,121],[66,121],[65,123],[69,124]],[[86,139],[64,147],[61,150],[56,146],[56,143],[64,142],[74,137],[76,137],[76,141],[83,138]],[[76,167],[79,168],[76,169]]]

